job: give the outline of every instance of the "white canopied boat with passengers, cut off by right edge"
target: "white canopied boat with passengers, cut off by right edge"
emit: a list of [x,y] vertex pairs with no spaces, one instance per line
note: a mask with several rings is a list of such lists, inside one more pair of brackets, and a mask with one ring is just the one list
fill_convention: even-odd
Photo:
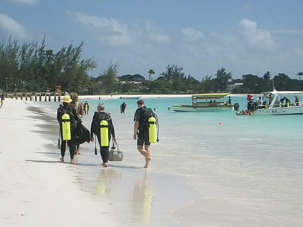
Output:
[[[257,108],[253,115],[297,115],[303,114],[303,92],[302,91],[271,91],[262,92],[263,100],[271,95],[272,102]],[[297,101],[295,100],[297,97]],[[269,102],[268,102],[269,103]]]

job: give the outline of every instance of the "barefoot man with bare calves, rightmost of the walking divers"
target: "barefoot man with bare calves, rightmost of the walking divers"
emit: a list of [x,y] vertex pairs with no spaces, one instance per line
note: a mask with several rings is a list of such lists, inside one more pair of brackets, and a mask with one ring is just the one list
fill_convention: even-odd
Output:
[[[149,151],[149,134],[147,128],[147,120],[149,118],[149,112],[153,112],[153,110],[147,108],[143,100],[137,101],[138,108],[135,112],[134,117],[134,135],[133,139],[137,140],[137,149],[138,151],[145,157],[145,165],[147,168],[150,161],[150,151]],[[168,107],[169,108],[169,107]],[[148,116],[148,118],[146,118]],[[144,145],[144,149],[143,149]]]

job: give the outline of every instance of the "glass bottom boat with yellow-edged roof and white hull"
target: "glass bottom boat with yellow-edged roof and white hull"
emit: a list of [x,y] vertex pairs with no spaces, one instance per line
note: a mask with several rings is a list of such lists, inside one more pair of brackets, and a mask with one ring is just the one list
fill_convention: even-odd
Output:
[[229,94],[209,93],[192,95],[192,105],[173,105],[173,110],[180,112],[230,111],[233,110],[233,106],[224,101],[224,97]]

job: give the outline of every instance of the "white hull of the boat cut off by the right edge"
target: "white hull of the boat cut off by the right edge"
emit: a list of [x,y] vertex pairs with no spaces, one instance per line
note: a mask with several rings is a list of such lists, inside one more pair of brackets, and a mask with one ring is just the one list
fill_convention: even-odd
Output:
[[277,107],[270,109],[257,109],[254,115],[301,115],[303,114],[303,105],[290,107]]

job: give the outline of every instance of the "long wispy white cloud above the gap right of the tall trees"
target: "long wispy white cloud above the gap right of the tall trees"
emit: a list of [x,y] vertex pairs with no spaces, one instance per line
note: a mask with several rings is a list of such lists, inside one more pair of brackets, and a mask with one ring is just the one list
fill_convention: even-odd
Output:
[[123,45],[132,42],[129,35],[128,26],[119,24],[113,18],[99,18],[89,16],[85,13],[65,12],[67,16],[73,17],[87,32],[100,42],[106,42],[110,45]]

